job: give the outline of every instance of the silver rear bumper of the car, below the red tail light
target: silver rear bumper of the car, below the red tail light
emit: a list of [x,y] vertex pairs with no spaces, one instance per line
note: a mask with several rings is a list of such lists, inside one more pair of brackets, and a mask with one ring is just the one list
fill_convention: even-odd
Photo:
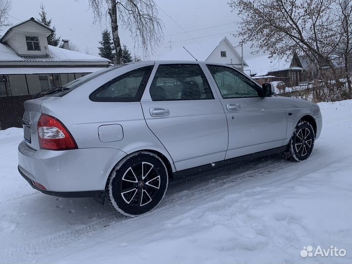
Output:
[[18,147],[18,168],[29,184],[44,194],[91,197],[105,189],[110,171],[125,155],[112,148],[36,151],[22,141]]

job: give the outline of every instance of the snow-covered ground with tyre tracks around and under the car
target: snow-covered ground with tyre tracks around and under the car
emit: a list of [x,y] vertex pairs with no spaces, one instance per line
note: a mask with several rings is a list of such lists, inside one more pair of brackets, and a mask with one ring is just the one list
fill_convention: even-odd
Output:
[[[170,182],[151,213],[43,195],[17,172],[20,129],[0,131],[0,263],[351,263],[352,100],[321,103],[310,158],[280,156]],[[304,246],[345,249],[307,257]]]

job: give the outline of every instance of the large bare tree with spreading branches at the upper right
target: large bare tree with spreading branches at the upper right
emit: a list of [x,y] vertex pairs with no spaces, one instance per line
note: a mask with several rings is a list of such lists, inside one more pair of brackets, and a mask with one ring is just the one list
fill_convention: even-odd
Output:
[[[338,89],[342,83],[332,60],[343,39],[343,20],[336,16],[338,1],[230,0],[229,5],[242,18],[238,33],[241,44],[251,42],[252,47],[271,56],[284,57],[297,51],[316,66],[317,80],[329,67],[333,76],[330,84]],[[351,30],[351,24],[347,27]]]

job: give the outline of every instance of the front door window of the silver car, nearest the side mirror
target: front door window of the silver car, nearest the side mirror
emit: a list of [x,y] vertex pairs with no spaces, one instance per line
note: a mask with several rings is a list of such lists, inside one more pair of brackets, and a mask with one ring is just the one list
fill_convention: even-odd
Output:
[[257,86],[234,69],[207,65],[217,83],[222,98],[258,97]]

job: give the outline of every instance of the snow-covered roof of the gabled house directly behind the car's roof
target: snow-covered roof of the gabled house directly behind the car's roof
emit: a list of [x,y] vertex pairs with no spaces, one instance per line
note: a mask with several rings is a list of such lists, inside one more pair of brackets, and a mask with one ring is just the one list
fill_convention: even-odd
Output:
[[[175,48],[165,52],[160,60],[184,60],[184,61],[207,61],[213,51],[219,46],[221,42],[226,42],[233,52],[241,58],[235,47],[229,42],[226,37],[219,37],[195,44],[185,45],[184,47]],[[192,56],[192,55],[193,56]],[[244,63],[246,66],[246,63]]]

